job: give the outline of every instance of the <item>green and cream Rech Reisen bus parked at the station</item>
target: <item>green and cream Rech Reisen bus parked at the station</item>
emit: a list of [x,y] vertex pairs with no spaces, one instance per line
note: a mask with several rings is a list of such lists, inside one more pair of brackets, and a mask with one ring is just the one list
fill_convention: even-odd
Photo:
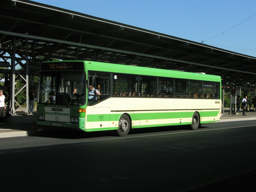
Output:
[[[186,125],[195,130],[221,116],[221,78],[208,74],[51,61],[41,64],[39,84],[38,125],[116,130],[125,136],[140,127]],[[88,99],[92,86],[94,102]]]

